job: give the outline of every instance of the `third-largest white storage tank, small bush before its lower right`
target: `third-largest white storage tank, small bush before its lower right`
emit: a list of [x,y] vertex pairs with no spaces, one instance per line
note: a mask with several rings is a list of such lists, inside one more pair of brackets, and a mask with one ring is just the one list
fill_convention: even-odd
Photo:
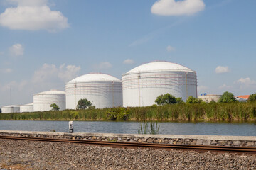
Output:
[[61,110],[65,110],[65,91],[43,91],[33,95],[33,111],[50,111],[51,104],[57,104]]

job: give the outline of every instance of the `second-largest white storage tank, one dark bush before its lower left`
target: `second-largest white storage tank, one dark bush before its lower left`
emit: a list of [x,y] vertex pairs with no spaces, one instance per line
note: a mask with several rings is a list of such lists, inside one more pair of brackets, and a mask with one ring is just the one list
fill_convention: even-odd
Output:
[[77,77],[65,85],[67,109],[76,109],[86,98],[95,108],[122,106],[122,81],[108,74],[91,73]]

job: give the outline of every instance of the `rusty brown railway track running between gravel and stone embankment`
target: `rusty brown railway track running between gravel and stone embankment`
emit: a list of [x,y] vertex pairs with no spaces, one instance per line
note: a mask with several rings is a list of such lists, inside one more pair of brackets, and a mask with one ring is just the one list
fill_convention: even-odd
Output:
[[100,145],[102,147],[121,147],[121,148],[151,148],[151,149],[183,149],[183,150],[196,150],[201,152],[235,152],[256,154],[256,147],[223,147],[223,146],[205,146],[205,145],[170,145],[170,144],[153,144],[153,143],[134,143],[134,142],[108,142],[96,140],[69,140],[69,139],[54,139],[54,138],[41,138],[41,137],[13,137],[13,136],[0,136],[0,139],[9,140],[31,140],[43,142],[70,142],[80,143],[87,145]]

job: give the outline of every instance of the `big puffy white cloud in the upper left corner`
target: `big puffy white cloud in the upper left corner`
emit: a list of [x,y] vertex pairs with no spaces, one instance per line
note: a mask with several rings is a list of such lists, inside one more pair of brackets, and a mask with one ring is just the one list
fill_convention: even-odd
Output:
[[68,28],[68,18],[60,11],[51,11],[47,0],[8,0],[14,8],[0,14],[0,25],[11,30],[48,30]]

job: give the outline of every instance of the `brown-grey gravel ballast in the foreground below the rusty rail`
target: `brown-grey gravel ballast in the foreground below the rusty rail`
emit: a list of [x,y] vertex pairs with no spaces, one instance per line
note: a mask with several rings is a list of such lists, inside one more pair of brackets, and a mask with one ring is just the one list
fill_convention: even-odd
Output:
[[1,139],[0,169],[256,169],[256,156]]

